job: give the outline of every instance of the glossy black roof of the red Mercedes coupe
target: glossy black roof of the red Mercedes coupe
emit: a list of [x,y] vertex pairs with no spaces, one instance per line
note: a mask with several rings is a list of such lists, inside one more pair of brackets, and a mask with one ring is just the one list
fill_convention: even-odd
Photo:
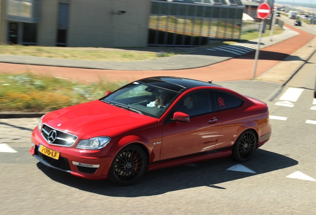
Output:
[[158,76],[158,77],[150,77],[141,79],[138,82],[152,85],[155,87],[176,91],[176,92],[184,92],[193,87],[220,87],[215,84],[211,84],[209,82],[198,81],[194,79],[187,78],[178,78],[178,77],[169,77],[169,76]]

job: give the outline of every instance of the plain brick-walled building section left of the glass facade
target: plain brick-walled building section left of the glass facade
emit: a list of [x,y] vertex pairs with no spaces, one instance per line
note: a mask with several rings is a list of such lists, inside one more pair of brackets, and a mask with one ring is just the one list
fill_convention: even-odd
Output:
[[147,45],[150,0],[0,0],[0,43]]

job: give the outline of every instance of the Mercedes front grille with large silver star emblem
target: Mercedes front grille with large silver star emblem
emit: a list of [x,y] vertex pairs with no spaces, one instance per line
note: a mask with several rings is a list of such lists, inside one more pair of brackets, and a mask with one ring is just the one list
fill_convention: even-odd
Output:
[[[49,138],[51,133],[56,131],[56,138]],[[53,145],[63,145],[63,146],[72,146],[74,142],[77,140],[77,136],[57,130],[52,128],[46,124],[43,124],[42,127],[42,135],[46,139],[46,141]]]

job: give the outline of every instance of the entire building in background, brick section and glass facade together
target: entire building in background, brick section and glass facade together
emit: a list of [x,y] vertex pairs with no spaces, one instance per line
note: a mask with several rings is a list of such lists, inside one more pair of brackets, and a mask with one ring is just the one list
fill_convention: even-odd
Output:
[[193,46],[239,39],[241,0],[0,0],[0,43]]

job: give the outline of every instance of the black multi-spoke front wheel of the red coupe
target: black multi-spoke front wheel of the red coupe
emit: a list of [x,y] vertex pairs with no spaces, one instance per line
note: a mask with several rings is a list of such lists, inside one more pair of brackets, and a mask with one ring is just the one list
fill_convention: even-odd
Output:
[[147,157],[144,150],[135,144],[123,148],[115,156],[109,180],[116,185],[128,186],[139,180],[147,169]]

